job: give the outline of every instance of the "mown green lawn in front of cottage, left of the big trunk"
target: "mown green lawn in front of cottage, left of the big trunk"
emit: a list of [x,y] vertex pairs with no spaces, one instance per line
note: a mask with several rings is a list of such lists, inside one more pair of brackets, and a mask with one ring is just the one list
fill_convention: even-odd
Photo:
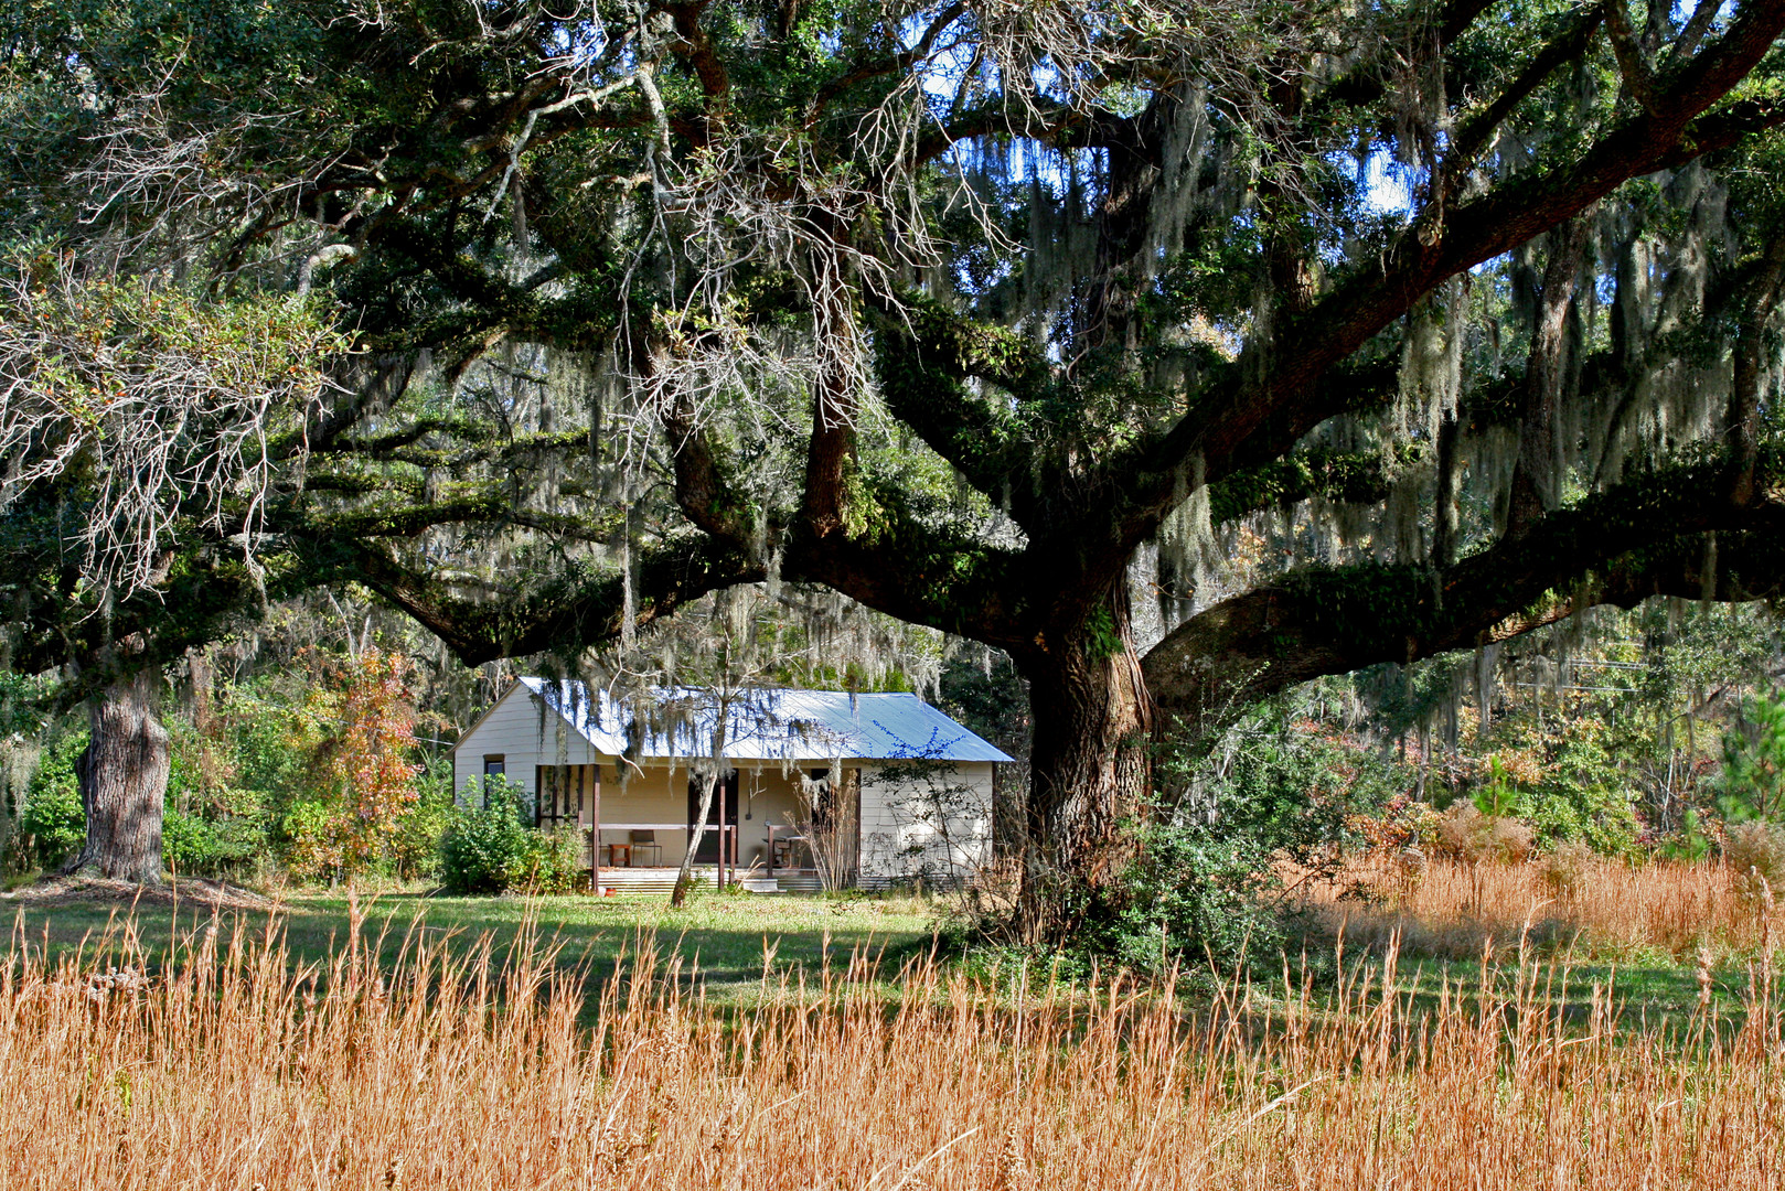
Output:
[[[0,902],[0,907],[5,904]],[[916,898],[826,898],[694,893],[673,911],[653,898],[444,898],[416,893],[382,893],[359,898],[364,916],[361,934],[380,941],[386,961],[394,961],[403,937],[414,929],[448,936],[455,946],[471,946],[486,934],[500,955],[528,925],[546,945],[557,946],[560,968],[587,966],[593,980],[612,975],[616,959],[652,941],[659,954],[680,959],[684,971],[709,996],[750,996],[764,979],[810,979],[826,962],[843,966],[857,950],[878,955],[891,979],[900,964],[926,952],[935,937],[937,914]],[[0,911],[4,912],[4,911]],[[93,948],[107,932],[118,934],[127,920],[152,955],[170,941],[209,927],[212,909],[203,904],[168,907],[73,902],[62,905],[18,905],[7,923],[14,943],[32,950],[66,954]],[[352,929],[345,895],[293,895],[277,911],[221,911],[225,929],[241,925],[259,934],[268,925],[286,932],[298,961],[332,954]]]

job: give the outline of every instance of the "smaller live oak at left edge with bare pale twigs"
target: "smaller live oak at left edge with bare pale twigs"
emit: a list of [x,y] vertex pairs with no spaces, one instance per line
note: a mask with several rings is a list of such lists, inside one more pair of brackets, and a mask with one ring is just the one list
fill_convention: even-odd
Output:
[[[352,582],[371,543],[450,525],[461,554],[489,555],[518,527],[587,532],[511,500],[536,436],[436,461],[427,484],[391,475],[391,443],[362,434],[375,386],[312,302],[93,277],[62,252],[7,264],[0,645],[9,670],[52,677],[43,702],[87,705],[71,870],[159,880],[170,662]],[[577,602],[618,586],[594,577]]]

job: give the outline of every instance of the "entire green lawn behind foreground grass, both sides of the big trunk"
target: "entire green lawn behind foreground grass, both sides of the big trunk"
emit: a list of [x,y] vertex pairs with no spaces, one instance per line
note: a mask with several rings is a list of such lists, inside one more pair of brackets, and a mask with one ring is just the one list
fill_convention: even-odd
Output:
[[[5,918],[9,909],[11,920]],[[669,909],[662,896],[523,900],[378,893],[362,896],[359,911],[364,916],[361,934],[378,943],[386,964],[396,961],[412,930],[436,939],[446,937],[457,948],[471,948],[487,936],[500,957],[516,936],[532,927],[543,945],[555,948],[560,968],[585,970],[593,984],[612,977],[616,961],[648,941],[664,961],[680,962],[685,984],[698,986],[719,1002],[751,1000],[762,987],[766,968],[775,984],[782,979],[810,982],[826,966],[841,970],[853,954],[878,959],[880,984],[889,998],[896,998],[900,966],[930,952],[941,918],[937,905],[919,898],[714,893],[691,895],[687,907],[680,911]],[[259,934],[275,925],[284,930],[293,957],[312,962],[327,959],[346,941],[352,905],[345,895],[298,893],[289,895],[277,911],[232,909],[223,911],[221,918],[225,930],[239,925]],[[7,923],[14,946],[23,941],[32,950],[46,948],[52,955],[82,946],[93,950],[107,934],[120,934],[127,923],[150,955],[161,955],[171,941],[191,937],[209,927],[211,920],[212,909],[200,902],[182,904],[177,911],[148,904],[132,911],[107,902],[12,907],[0,902],[0,921]],[[1317,936],[1305,941],[1310,957],[1324,954],[1330,959],[1330,946],[1332,939]],[[1376,964],[1380,970],[1380,952],[1373,955],[1373,950],[1348,948],[1346,968],[1355,971],[1358,964]],[[1507,961],[1512,964],[1496,975],[1501,991],[1514,980],[1515,955],[1499,957],[1499,962]],[[1316,962],[1330,971],[1330,964]],[[1614,989],[1626,1029],[1640,1029],[1644,1021],[1658,1025],[1664,1018],[1681,1021],[1698,1009],[1694,964],[1658,948],[1642,948],[1615,964],[1603,955],[1569,961],[1564,950],[1544,948],[1539,964],[1544,968],[1539,982],[1546,984],[1539,1000],[1562,1007],[1574,1021],[1589,1016],[1594,984]],[[978,966],[975,961],[975,968]],[[1039,975],[1046,966],[1037,962],[1032,973]],[[1296,968],[1294,961],[1291,968]],[[1748,971],[1737,964],[1723,964],[1708,975],[1717,1007],[1740,1016]],[[1009,979],[1010,973],[1001,973],[998,982]],[[1330,987],[1330,979],[1328,975],[1319,984]],[[1396,986],[1412,993],[1414,1004],[1435,1005],[1444,982],[1453,995],[1474,1000],[1482,964],[1421,955],[1412,948],[1401,954]],[[1192,987],[1200,986],[1201,982],[1192,982]],[[1282,984],[1266,982],[1257,991],[1269,1002],[1282,995]]]

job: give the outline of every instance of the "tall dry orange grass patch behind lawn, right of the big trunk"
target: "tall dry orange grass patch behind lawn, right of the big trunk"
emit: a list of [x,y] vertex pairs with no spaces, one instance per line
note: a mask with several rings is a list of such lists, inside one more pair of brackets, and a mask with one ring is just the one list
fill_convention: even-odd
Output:
[[1626,864],[1585,850],[1528,864],[1439,859],[1421,871],[1360,864],[1344,889],[1312,889],[1307,905],[1328,934],[1396,937],[1403,952],[1449,959],[1535,937],[1582,959],[1662,952],[1724,964],[1785,943],[1778,898],[1724,864]]

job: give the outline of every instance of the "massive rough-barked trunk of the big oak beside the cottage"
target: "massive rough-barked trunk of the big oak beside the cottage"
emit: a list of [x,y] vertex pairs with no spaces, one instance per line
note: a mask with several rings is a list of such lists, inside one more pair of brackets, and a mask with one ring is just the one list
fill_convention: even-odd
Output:
[[1126,593],[1108,616],[1019,659],[1035,743],[1017,925],[1059,941],[1128,855],[1121,829],[1144,807],[1151,714],[1128,634]]

